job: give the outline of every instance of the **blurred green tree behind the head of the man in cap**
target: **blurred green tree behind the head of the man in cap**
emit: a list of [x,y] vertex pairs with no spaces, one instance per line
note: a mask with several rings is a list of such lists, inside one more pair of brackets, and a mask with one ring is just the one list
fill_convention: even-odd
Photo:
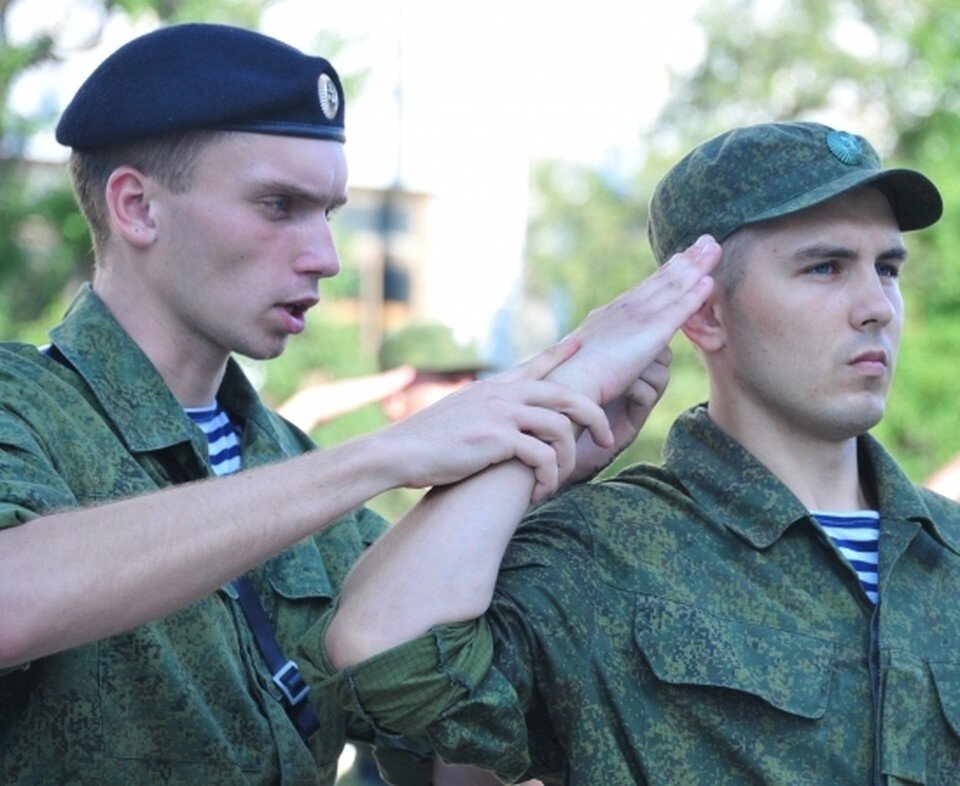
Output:
[[[921,480],[960,449],[955,372],[960,361],[960,6],[953,0],[710,0],[698,15],[704,55],[672,76],[671,99],[638,139],[639,171],[548,163],[535,178],[529,281],[540,297],[564,292],[563,329],[653,269],[643,231],[657,178],[692,145],[736,125],[819,120],[864,133],[886,163],[937,182],[946,215],[908,235],[907,328],[887,416],[877,427]],[[706,396],[686,342],[675,341],[671,389],[618,462],[656,460],[675,411]]]

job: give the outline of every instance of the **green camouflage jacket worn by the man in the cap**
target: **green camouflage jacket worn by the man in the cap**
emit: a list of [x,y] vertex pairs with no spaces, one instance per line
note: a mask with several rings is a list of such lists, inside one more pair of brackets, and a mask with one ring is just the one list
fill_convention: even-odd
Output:
[[[838,550],[705,409],[662,468],[527,517],[494,603],[336,675],[385,728],[550,783],[960,783],[960,506],[860,440],[875,608]],[[491,666],[492,659],[492,666]],[[397,684],[406,675],[405,684]],[[440,720],[438,720],[440,718]]]

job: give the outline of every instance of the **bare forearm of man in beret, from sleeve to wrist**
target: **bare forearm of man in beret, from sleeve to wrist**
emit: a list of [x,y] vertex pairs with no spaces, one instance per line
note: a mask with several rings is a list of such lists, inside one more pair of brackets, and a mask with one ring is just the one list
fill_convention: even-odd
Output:
[[395,485],[385,461],[358,441],[0,531],[0,667],[214,591]]

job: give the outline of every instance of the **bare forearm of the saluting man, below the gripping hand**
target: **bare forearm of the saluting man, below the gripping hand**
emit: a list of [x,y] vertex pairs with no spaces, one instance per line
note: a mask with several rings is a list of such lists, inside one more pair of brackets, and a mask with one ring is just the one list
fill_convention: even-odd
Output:
[[354,567],[326,637],[337,668],[436,625],[482,615],[529,505],[533,471],[511,461],[436,489]]

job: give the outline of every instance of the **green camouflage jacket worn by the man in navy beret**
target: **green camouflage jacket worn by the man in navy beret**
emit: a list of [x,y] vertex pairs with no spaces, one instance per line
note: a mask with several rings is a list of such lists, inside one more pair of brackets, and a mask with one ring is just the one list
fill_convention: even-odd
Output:
[[[0,527],[167,486],[161,454],[211,474],[203,434],[99,298],[85,290],[51,336],[79,376],[34,347],[0,346]],[[233,362],[220,400],[242,426],[244,466],[312,447]],[[358,510],[255,572],[288,657],[383,528]],[[345,736],[372,741],[369,725],[314,690],[321,731],[304,744],[232,592],[0,671],[0,783],[332,784]],[[427,783],[423,756],[389,744],[381,761],[397,781]]]

